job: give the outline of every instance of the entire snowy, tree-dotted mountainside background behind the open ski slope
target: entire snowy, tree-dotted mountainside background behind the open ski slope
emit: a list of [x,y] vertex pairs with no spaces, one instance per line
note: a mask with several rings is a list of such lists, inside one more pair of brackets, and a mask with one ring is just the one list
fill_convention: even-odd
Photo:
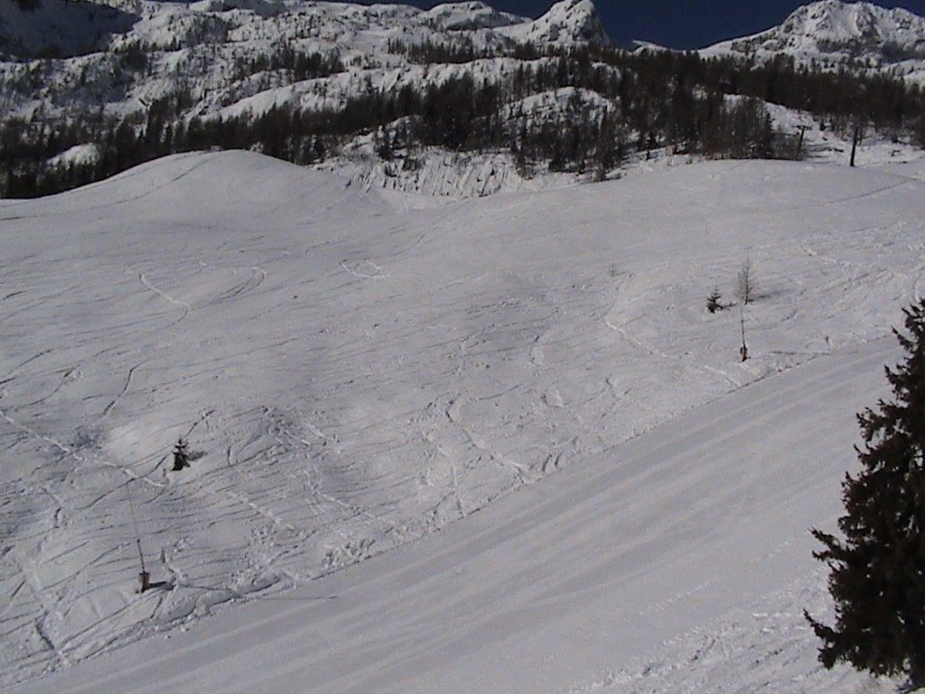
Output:
[[[615,48],[590,0],[562,0],[536,19],[478,2],[7,2],[0,196],[62,192],[209,149],[471,196],[618,177],[666,153],[811,157],[844,149],[856,123],[867,141],[920,148],[923,97],[912,81],[884,76],[880,58],[870,69],[830,62],[808,72],[777,50],[831,48],[834,30],[820,27],[845,25],[847,7],[807,9],[841,15],[792,18],[791,38],[768,39],[776,58],[749,62],[731,49],[707,59]],[[850,18],[851,31],[867,31],[865,51],[919,50],[920,20],[869,9],[870,21],[859,10]],[[831,37],[807,38],[817,34]],[[825,135],[804,149],[807,129]]]

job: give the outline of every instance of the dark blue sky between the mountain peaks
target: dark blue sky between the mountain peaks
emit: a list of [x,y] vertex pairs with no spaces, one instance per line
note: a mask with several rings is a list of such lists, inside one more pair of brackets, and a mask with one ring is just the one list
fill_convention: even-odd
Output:
[[[553,0],[485,2],[518,15],[538,17],[549,9]],[[440,3],[402,0],[402,4],[432,7]],[[808,0],[595,0],[595,4],[615,43],[640,39],[671,48],[702,48],[780,24],[796,7],[807,5]],[[925,16],[925,0],[886,0],[877,4],[906,7]]]

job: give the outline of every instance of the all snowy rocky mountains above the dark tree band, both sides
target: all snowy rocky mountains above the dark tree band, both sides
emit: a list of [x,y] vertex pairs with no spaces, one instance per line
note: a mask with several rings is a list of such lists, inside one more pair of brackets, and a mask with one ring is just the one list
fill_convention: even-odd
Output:
[[[562,0],[538,19],[482,2],[422,10],[302,0],[6,0],[0,3],[0,55],[6,55],[0,106],[19,116],[53,115],[72,105],[132,110],[169,93],[178,81],[193,85],[193,110],[200,115],[259,109],[280,98],[311,105],[350,93],[357,83],[388,87],[402,80],[401,73],[419,83],[419,70],[389,46],[466,46],[474,56],[486,56],[515,43],[610,40],[591,0]],[[236,77],[242,64],[280,46],[336,55],[350,71],[323,88],[317,81],[270,84],[250,74]],[[925,81],[925,19],[903,9],[821,0],[779,27],[700,54],[759,60],[787,55],[801,65],[870,68]],[[36,57],[56,60],[42,67],[27,62]]]

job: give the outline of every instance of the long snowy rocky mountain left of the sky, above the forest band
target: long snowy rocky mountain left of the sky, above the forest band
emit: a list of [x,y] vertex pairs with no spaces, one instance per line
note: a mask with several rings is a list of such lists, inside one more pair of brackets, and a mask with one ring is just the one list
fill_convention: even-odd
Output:
[[[259,112],[280,100],[306,107],[336,104],[364,89],[395,86],[408,60],[391,44],[457,45],[475,51],[519,43],[606,42],[589,0],[563,0],[536,20],[498,12],[479,2],[435,6],[360,6],[344,3],[224,2],[190,5],[138,0],[131,13],[91,2],[41,0],[38,9],[0,6],[0,49],[31,55],[62,55],[49,65],[0,62],[0,99],[7,118],[56,117],[89,105],[130,113],[189,87],[194,114],[228,109]],[[281,50],[318,54],[350,67],[327,79],[323,73],[285,76],[251,69],[272,62]],[[267,65],[267,68],[270,66]],[[490,68],[503,70],[499,65]],[[440,72],[409,77],[441,80]]]

